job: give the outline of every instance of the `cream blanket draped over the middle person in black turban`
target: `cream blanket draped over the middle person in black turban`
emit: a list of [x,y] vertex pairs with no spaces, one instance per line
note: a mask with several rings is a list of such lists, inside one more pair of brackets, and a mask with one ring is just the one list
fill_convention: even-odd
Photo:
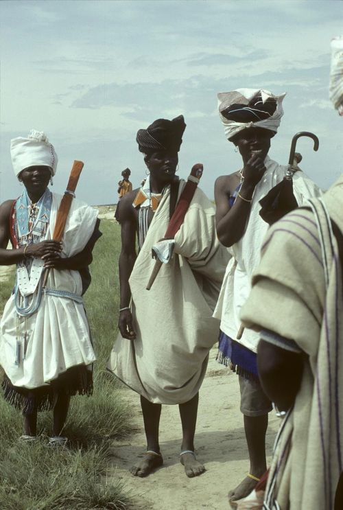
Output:
[[155,264],[152,245],[168,222],[166,192],[130,276],[137,338],[119,334],[108,362],[108,369],[154,404],[182,404],[198,392],[218,338],[219,321],[212,314],[228,263],[215,234],[213,205],[196,189],[175,236],[175,255],[146,290]]

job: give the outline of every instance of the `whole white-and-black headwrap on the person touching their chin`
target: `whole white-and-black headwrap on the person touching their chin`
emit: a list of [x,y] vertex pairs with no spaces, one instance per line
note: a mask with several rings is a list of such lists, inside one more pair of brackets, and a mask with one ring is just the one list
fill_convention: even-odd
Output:
[[275,134],[283,116],[285,95],[273,95],[263,89],[220,92],[218,109],[226,138],[230,140],[246,128],[269,129]]

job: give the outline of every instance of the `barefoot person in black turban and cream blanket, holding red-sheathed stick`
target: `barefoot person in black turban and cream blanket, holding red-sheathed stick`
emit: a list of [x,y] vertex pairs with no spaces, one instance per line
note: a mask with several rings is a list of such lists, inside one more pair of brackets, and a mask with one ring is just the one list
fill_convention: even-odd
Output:
[[168,264],[146,290],[155,264],[152,247],[165,235],[185,185],[175,175],[185,127],[180,115],[139,130],[137,143],[150,176],[121,199],[119,209],[120,333],[108,368],[141,395],[147,452],[131,468],[134,476],[147,476],[163,463],[158,441],[161,404],[179,405],[185,473],[191,477],[204,472],[193,443],[198,391],[219,331],[212,313],[228,253],[215,235],[213,205],[199,188],[175,235]]

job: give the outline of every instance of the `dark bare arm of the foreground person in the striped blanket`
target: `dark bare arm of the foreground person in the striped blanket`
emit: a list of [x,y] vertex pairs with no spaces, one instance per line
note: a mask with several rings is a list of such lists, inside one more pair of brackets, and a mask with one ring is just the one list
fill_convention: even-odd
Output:
[[279,410],[287,411],[294,404],[303,377],[303,356],[259,341],[257,367],[261,385]]

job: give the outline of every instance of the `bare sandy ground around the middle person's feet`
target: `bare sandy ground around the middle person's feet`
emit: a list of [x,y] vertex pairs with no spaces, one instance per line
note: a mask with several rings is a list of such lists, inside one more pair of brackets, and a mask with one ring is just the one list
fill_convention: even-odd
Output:
[[[138,478],[128,468],[143,456],[145,435],[139,396],[123,386],[123,397],[134,410],[137,432],[128,440],[113,444],[113,476],[125,481],[139,510],[228,510],[227,493],[246,475],[248,451],[239,411],[237,375],[215,361],[217,348],[210,353],[209,368],[200,389],[196,452],[206,466],[197,478],[187,478],[179,461],[181,426],[178,406],[163,406],[161,452],[164,464],[147,476]],[[268,459],[279,419],[270,413],[267,433]]]

